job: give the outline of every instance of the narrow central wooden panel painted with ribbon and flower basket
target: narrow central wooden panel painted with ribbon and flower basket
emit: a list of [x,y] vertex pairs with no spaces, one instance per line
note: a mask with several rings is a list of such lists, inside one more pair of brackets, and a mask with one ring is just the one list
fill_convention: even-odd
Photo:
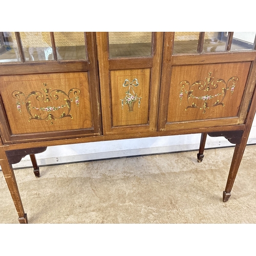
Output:
[[147,124],[150,69],[115,70],[110,77],[112,125]]

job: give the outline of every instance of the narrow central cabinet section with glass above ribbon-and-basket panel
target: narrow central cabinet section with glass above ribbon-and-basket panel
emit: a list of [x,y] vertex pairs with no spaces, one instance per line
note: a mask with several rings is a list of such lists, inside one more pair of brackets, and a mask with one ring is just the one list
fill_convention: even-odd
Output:
[[162,32],[97,32],[103,134],[157,130]]

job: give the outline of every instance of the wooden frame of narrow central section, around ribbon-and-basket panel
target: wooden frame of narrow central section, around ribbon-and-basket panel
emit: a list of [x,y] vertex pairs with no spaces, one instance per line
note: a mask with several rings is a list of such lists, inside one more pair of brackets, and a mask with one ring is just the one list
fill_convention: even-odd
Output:
[[[163,32],[153,32],[152,56],[109,58],[108,32],[96,32],[103,135],[148,133],[157,130]],[[147,124],[113,126],[110,72],[113,70],[151,69]],[[121,84],[122,85],[122,84]]]

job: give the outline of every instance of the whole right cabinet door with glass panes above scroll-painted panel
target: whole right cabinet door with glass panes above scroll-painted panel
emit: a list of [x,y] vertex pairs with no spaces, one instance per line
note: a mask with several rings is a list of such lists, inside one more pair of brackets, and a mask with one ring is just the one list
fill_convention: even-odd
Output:
[[255,86],[250,44],[232,32],[166,32],[159,131],[243,124]]

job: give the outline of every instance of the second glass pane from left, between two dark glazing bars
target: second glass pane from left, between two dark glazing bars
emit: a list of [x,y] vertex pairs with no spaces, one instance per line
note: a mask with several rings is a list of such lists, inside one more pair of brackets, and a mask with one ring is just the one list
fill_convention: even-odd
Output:
[[26,61],[52,60],[49,32],[20,32]]

